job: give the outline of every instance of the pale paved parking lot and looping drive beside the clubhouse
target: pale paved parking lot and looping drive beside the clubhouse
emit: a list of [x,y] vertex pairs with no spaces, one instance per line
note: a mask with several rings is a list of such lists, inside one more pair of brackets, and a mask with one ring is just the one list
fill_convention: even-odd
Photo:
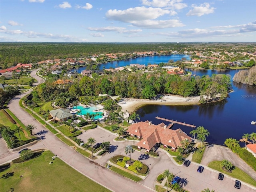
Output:
[[[87,142],[87,139],[93,137],[98,142],[106,142],[110,141],[111,149],[110,153],[98,158],[95,160],[99,164],[105,165],[106,162],[115,155],[124,155],[128,156],[124,153],[124,148],[126,145],[133,145],[133,141],[114,141],[114,138],[117,135],[113,134],[105,130],[104,128],[95,128],[92,130],[88,130],[83,134],[79,135],[78,138],[82,139],[84,142]],[[136,144],[136,143],[135,143]],[[159,153],[159,158],[153,158],[144,154],[145,150],[141,152],[135,150],[134,153],[131,154],[132,159],[140,160],[144,164],[146,164],[150,168],[150,174],[146,177],[146,179],[142,180],[140,183],[144,184],[150,188],[154,189],[154,181],[157,176],[164,172],[164,170],[169,169],[170,172],[175,174],[175,176],[179,176],[181,178],[181,184],[184,188],[190,192],[199,192],[204,190],[205,188],[209,188],[210,190],[215,190],[218,192],[255,192],[256,188],[250,188],[246,184],[242,182],[240,190],[234,188],[235,180],[234,178],[228,178],[224,174],[223,180],[218,180],[218,172],[215,170],[211,170],[207,166],[204,166],[204,170],[202,173],[197,172],[197,168],[199,164],[191,162],[191,164],[186,167],[183,165],[177,165],[170,159],[170,156],[166,154],[166,152],[159,148],[157,152]]]

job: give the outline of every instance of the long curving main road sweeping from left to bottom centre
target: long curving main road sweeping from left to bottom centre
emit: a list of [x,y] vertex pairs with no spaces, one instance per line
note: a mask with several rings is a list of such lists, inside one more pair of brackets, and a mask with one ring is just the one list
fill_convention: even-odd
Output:
[[[32,73],[33,74],[33,73]],[[33,76],[33,75],[32,75]],[[37,76],[33,76],[36,78]],[[36,78],[37,79],[37,78]],[[40,79],[37,79],[40,82]],[[8,108],[13,114],[20,119],[20,121],[26,126],[28,124],[34,124],[36,128],[33,130],[33,134],[40,131],[47,130],[40,122],[35,120],[32,116],[26,113],[20,106],[19,100],[29,92],[20,94],[14,97],[8,104]],[[88,178],[98,182],[102,186],[118,192],[150,192],[154,191],[142,184],[133,182],[127,178],[121,177],[115,174],[111,170],[100,166],[97,163],[85,158],[83,155],[77,153],[73,148],[70,148],[61,140],[59,140],[52,132],[48,131],[44,138],[40,141],[46,148],[48,148],[54,154],[70,165],[72,168],[78,170]],[[18,152],[17,152],[18,153]]]

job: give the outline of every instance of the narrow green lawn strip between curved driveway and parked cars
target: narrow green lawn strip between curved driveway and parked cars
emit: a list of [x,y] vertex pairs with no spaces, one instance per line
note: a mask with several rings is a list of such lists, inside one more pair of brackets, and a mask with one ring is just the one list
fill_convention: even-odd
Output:
[[241,180],[256,186],[256,181],[253,178],[251,178],[248,174],[240,170],[239,168],[236,167],[234,170],[232,170],[232,173],[229,173],[222,170],[220,163],[221,161],[212,161],[208,164],[208,167],[218,170],[219,172],[225,173],[227,175],[230,175],[238,180]]

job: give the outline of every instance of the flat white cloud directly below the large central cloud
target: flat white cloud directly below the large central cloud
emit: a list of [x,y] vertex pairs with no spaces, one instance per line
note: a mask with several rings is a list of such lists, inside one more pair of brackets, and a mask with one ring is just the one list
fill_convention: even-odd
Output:
[[150,29],[161,29],[161,28],[173,28],[185,26],[179,20],[145,20],[139,22],[133,22],[134,26]]

